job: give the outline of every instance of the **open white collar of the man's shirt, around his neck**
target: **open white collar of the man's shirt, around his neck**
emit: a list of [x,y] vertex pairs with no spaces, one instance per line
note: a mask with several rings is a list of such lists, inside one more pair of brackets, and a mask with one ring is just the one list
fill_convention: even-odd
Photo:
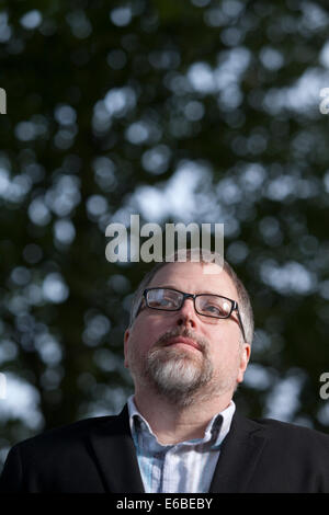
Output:
[[[136,408],[135,401],[134,401],[134,396],[131,396],[127,401],[128,404],[128,412],[129,412],[129,424],[131,424],[131,431],[133,438],[135,439],[135,436],[138,431],[146,432],[147,434],[154,436],[157,439],[157,436],[152,432],[149,423],[147,420],[139,413],[139,411]],[[195,438],[195,439],[190,439],[186,442],[181,442],[178,445],[196,445],[196,444],[205,444],[207,442],[212,440],[212,447],[216,448],[219,446],[229,432],[230,424],[231,424],[231,419],[232,415],[236,411],[236,404],[231,400],[230,403],[228,404],[225,410],[216,413],[212,420],[208,422],[205,432],[204,432],[204,437],[203,438]],[[159,444],[161,445],[161,444]]]

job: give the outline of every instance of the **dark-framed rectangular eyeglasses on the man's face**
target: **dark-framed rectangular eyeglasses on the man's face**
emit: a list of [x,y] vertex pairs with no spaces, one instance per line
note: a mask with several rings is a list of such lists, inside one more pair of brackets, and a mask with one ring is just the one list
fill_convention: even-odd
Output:
[[[158,309],[160,311],[179,311],[185,299],[189,298],[193,299],[195,311],[203,317],[225,319],[229,318],[234,311],[237,311],[243,341],[246,342],[246,333],[236,300],[223,297],[222,295],[184,294],[183,291],[172,288],[147,288],[143,291],[143,296],[148,308]],[[139,311],[140,308],[138,312]]]

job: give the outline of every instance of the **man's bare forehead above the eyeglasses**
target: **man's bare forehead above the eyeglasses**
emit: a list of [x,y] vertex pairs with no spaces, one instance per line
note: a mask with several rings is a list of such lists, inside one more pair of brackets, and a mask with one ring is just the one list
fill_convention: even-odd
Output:
[[147,287],[157,286],[167,286],[188,294],[223,295],[238,300],[231,278],[215,263],[168,263],[156,273]]

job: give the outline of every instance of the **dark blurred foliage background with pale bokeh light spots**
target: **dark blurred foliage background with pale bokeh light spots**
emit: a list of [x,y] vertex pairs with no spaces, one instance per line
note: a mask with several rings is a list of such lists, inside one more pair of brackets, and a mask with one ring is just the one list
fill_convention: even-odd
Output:
[[132,393],[144,263],[105,228],[225,224],[256,312],[236,402],[328,432],[327,2],[0,2],[0,458]]

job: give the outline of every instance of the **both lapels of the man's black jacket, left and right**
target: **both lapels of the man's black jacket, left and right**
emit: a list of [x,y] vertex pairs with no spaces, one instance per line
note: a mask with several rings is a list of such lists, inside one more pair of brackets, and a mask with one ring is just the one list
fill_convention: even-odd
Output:
[[[211,493],[248,492],[266,438],[261,424],[234,414],[220,447]],[[104,417],[89,436],[106,492],[145,493],[133,442],[127,404],[116,416]]]

